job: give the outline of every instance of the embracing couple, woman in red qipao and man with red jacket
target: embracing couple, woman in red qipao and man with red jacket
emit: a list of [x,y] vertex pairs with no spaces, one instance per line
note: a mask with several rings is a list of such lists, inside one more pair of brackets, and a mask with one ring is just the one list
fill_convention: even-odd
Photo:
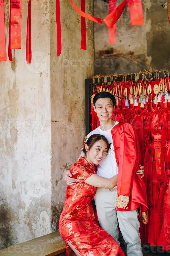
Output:
[[[147,199],[144,167],[136,171],[140,164],[139,142],[130,124],[112,120],[112,94],[100,92],[93,102],[100,127],[89,133],[79,160],[65,171],[68,186],[59,230],[67,252],[72,249],[76,255],[124,255],[118,241],[119,222],[127,256],[141,256],[138,216],[147,223]],[[91,206],[93,195],[100,226]]]

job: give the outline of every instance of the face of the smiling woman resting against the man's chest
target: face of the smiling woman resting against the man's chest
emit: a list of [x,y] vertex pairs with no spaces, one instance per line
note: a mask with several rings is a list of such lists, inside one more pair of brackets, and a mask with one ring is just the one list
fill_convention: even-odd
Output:
[[87,144],[85,144],[85,148],[87,151],[86,159],[93,165],[98,165],[107,155],[107,144],[102,139],[95,142],[90,150],[88,150]]

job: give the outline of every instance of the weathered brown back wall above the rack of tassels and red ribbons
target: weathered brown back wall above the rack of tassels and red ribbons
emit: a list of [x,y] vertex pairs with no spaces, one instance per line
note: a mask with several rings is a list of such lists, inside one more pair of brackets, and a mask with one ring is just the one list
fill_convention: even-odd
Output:
[[[119,5],[122,1],[116,1]],[[108,28],[96,24],[95,28],[95,74],[136,73],[143,69],[169,70],[170,32],[167,10],[161,7],[162,1],[142,1],[144,25],[131,26],[129,8],[116,23],[116,43],[109,44]],[[95,16],[108,15],[108,4],[96,0]],[[100,54],[101,50],[113,50],[111,54]]]

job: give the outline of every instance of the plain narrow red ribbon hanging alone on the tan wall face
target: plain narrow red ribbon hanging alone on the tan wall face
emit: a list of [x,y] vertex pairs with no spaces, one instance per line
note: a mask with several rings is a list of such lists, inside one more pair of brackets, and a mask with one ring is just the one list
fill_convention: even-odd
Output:
[[56,0],[57,56],[61,54],[60,0]]

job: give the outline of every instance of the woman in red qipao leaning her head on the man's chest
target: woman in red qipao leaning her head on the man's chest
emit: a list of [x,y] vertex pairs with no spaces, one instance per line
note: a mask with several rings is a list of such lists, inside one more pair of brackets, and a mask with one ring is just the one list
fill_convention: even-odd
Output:
[[103,135],[91,135],[84,145],[85,157],[81,157],[70,170],[77,183],[67,185],[59,221],[67,255],[71,249],[78,256],[125,255],[114,238],[100,228],[91,205],[96,187],[112,189],[117,185],[117,175],[107,179],[95,174],[95,165],[106,157],[108,149],[108,141]]

